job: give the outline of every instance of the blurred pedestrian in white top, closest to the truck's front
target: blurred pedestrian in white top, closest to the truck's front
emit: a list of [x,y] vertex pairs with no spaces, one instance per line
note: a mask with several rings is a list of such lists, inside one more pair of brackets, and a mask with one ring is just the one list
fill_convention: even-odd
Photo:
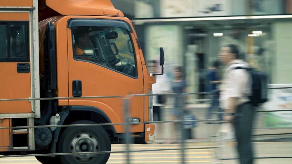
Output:
[[[150,60],[147,62],[147,68],[151,74],[161,72],[161,67],[159,67],[159,62],[156,60]],[[158,75],[156,76],[156,83],[152,84],[153,94],[165,94],[171,91],[170,81],[167,76]],[[153,96],[153,121],[163,121],[162,107],[166,105],[167,96],[159,95]],[[163,133],[163,123],[155,124],[155,141],[160,142],[164,140]]]

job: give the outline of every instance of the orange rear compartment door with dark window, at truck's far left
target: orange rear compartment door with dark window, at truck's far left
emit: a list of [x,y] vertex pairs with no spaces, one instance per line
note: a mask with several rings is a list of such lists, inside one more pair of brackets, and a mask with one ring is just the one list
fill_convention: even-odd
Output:
[[[26,16],[29,20],[29,13],[18,18]],[[31,97],[28,27],[28,21],[0,22],[0,99]],[[31,113],[31,108],[28,100],[0,102],[0,113]]]

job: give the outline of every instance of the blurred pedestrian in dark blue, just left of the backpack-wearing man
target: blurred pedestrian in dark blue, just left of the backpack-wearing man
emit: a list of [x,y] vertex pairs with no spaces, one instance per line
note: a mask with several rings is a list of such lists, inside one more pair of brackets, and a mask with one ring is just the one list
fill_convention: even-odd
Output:
[[[219,68],[219,61],[213,61],[212,66],[207,70],[206,76],[206,91],[211,95],[211,105],[206,111],[206,119],[211,119],[211,114],[214,109],[217,109],[219,123],[222,121],[223,110],[219,107],[219,93],[218,84],[221,84],[221,81],[218,80],[217,71]],[[206,122],[207,124],[212,124],[214,122]]]

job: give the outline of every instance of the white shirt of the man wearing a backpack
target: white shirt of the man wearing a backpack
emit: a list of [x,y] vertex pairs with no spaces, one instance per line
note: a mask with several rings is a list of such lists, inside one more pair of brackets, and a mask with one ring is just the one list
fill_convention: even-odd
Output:
[[234,60],[225,67],[219,97],[220,107],[223,109],[230,108],[231,97],[238,98],[236,105],[250,101],[248,96],[252,94],[251,77],[245,69],[235,69],[236,67],[249,68],[250,66],[242,60]]

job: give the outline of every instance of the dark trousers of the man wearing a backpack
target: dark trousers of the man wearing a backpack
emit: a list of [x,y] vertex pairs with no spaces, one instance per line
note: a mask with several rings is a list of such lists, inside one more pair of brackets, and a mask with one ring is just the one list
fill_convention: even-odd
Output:
[[245,103],[237,107],[234,120],[234,131],[237,139],[237,151],[240,164],[253,164],[253,149],[251,143],[251,131],[253,125],[254,110],[251,103]]

